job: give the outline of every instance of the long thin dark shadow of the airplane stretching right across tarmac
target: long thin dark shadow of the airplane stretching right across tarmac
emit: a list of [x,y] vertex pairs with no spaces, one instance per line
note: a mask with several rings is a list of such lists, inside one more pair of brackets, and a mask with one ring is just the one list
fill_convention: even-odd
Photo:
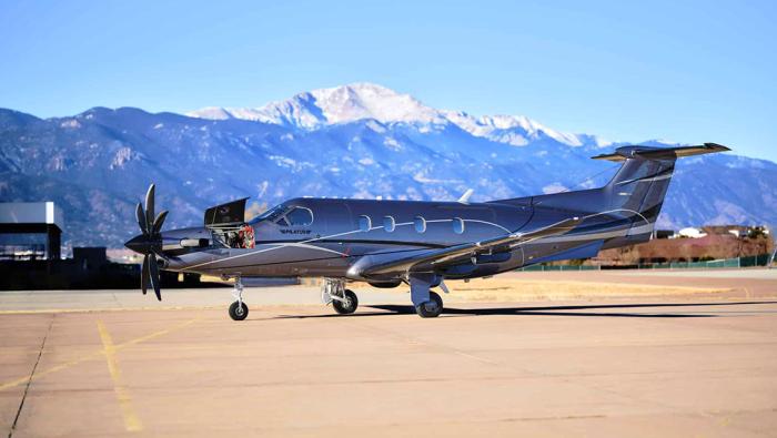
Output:
[[[709,318],[720,316],[715,313],[634,313],[619,312],[620,309],[630,308],[652,308],[652,307],[698,307],[698,306],[738,306],[754,304],[775,304],[777,302],[737,302],[737,303],[635,303],[635,304],[593,304],[593,305],[573,305],[573,306],[542,306],[542,307],[483,307],[483,308],[454,308],[445,307],[443,315],[455,316],[488,316],[488,315],[514,315],[514,316],[612,316],[627,318]],[[276,318],[329,318],[329,317],[356,317],[356,316],[390,316],[415,314],[415,308],[410,305],[369,305],[365,307],[387,310],[387,312],[360,312],[351,315],[283,315]],[[575,312],[575,310],[605,310],[605,312]]]

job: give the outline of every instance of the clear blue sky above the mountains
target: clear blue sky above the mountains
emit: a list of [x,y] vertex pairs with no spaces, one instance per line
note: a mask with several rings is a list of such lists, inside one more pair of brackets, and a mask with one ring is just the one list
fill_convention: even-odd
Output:
[[3,1],[0,106],[256,106],[375,82],[609,140],[777,161],[777,2]]

